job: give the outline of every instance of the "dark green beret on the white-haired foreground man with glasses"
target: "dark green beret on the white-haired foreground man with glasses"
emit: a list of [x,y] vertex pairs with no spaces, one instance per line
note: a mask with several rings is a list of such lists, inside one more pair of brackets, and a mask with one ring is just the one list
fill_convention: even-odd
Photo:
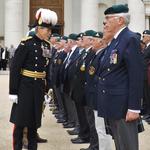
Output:
[[119,13],[128,13],[129,8],[127,4],[123,5],[113,5],[112,7],[109,7],[105,10],[104,14],[109,15],[109,14],[119,14]]

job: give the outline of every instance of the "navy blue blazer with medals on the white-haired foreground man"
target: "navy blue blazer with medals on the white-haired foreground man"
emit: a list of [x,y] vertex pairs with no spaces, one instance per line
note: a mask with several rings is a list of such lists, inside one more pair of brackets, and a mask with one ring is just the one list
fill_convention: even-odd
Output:
[[98,70],[98,115],[125,118],[127,110],[140,110],[143,63],[138,36],[125,28],[107,48]]

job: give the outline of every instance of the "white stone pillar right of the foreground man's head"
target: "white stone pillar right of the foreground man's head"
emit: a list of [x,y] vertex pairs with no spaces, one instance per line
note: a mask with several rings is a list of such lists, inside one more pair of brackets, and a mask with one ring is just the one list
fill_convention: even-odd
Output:
[[129,28],[142,33],[145,30],[144,3],[141,0],[128,0],[128,7],[131,15]]

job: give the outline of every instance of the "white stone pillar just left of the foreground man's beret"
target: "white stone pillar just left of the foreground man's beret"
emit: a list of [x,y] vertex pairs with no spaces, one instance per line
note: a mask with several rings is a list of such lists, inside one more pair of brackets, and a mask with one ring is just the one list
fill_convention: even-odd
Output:
[[100,19],[98,0],[81,0],[81,32],[89,29],[97,31]]

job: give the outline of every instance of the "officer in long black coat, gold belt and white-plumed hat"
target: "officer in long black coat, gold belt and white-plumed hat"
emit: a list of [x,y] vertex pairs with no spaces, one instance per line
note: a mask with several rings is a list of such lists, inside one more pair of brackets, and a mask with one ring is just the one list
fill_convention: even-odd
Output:
[[[57,15],[48,9],[36,12],[33,37],[21,41],[10,69],[9,98],[13,102],[10,122],[14,123],[13,149],[22,149],[23,128],[28,129],[28,149],[37,150],[36,133],[41,126],[42,106],[48,91],[51,26]],[[47,82],[48,83],[48,82]]]

